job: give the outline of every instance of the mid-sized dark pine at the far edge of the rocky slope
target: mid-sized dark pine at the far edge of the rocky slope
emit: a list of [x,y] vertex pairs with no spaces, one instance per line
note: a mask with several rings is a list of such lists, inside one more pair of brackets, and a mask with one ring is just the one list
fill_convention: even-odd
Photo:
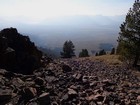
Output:
[[63,45],[63,52],[60,52],[62,58],[71,58],[71,57],[75,56],[74,47],[75,46],[71,40],[65,41],[65,43]]

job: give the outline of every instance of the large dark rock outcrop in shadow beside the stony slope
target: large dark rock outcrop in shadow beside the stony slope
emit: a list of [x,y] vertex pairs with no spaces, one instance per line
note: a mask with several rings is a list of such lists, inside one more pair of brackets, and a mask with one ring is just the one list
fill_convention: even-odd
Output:
[[32,74],[41,66],[42,52],[28,36],[18,33],[16,28],[0,31],[0,68]]

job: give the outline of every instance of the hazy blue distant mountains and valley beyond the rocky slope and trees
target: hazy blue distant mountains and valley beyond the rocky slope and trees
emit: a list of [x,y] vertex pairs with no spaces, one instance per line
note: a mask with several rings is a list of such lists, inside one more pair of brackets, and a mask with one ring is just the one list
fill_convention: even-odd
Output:
[[[100,50],[100,44],[116,46],[119,27],[125,15],[121,16],[69,16],[44,20],[38,24],[19,21],[0,22],[0,28],[16,27],[20,33],[27,34],[40,47],[62,48],[66,40],[72,40],[76,53],[87,48]],[[8,26],[9,25],[9,26]]]

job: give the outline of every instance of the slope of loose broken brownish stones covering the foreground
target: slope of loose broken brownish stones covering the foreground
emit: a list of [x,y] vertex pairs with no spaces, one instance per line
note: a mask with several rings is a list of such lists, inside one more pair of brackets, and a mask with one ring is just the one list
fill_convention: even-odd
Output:
[[89,59],[56,60],[33,75],[1,69],[0,105],[140,105],[140,77]]

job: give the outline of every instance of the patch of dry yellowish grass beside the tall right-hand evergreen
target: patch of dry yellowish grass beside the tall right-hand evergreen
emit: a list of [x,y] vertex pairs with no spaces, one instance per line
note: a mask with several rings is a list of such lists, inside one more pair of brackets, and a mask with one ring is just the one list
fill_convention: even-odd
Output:
[[119,55],[102,55],[90,57],[91,60],[103,61],[109,65],[121,65],[122,62],[118,59]]

